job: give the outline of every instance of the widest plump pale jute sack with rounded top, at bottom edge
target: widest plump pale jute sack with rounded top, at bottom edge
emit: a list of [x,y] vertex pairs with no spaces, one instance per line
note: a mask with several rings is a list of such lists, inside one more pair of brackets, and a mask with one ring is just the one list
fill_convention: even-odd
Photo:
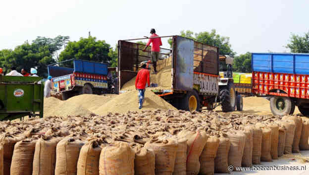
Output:
[[134,156],[126,142],[105,146],[100,154],[100,175],[134,175]]

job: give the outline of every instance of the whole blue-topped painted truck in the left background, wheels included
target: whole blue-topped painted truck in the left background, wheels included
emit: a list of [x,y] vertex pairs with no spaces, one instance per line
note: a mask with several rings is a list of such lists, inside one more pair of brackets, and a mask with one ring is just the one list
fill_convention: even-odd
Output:
[[[73,68],[59,65],[73,62]],[[60,94],[62,100],[81,94],[108,93],[108,67],[105,63],[70,59],[48,65],[52,76],[52,92]]]

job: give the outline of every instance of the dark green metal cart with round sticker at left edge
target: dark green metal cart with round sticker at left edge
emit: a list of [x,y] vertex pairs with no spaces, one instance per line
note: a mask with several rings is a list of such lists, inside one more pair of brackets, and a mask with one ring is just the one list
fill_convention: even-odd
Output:
[[0,120],[43,117],[44,85],[41,77],[0,75]]

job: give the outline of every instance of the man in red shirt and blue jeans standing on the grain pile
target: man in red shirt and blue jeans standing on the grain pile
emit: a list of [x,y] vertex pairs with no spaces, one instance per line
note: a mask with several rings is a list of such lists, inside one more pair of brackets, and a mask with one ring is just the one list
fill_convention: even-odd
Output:
[[135,80],[135,88],[139,92],[139,109],[143,108],[146,83],[148,84],[148,87],[150,87],[150,73],[149,70],[146,68],[146,63],[141,62],[141,67],[142,69],[139,70],[139,72],[137,73]]

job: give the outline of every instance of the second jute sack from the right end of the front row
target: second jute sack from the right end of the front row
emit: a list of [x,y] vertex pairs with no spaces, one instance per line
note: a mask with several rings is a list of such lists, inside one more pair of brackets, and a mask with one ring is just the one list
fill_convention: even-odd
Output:
[[302,117],[285,116],[282,118],[282,120],[293,120],[295,122],[295,133],[294,133],[293,144],[292,144],[292,152],[299,153],[300,152],[299,143],[301,140],[302,128],[303,128]]

